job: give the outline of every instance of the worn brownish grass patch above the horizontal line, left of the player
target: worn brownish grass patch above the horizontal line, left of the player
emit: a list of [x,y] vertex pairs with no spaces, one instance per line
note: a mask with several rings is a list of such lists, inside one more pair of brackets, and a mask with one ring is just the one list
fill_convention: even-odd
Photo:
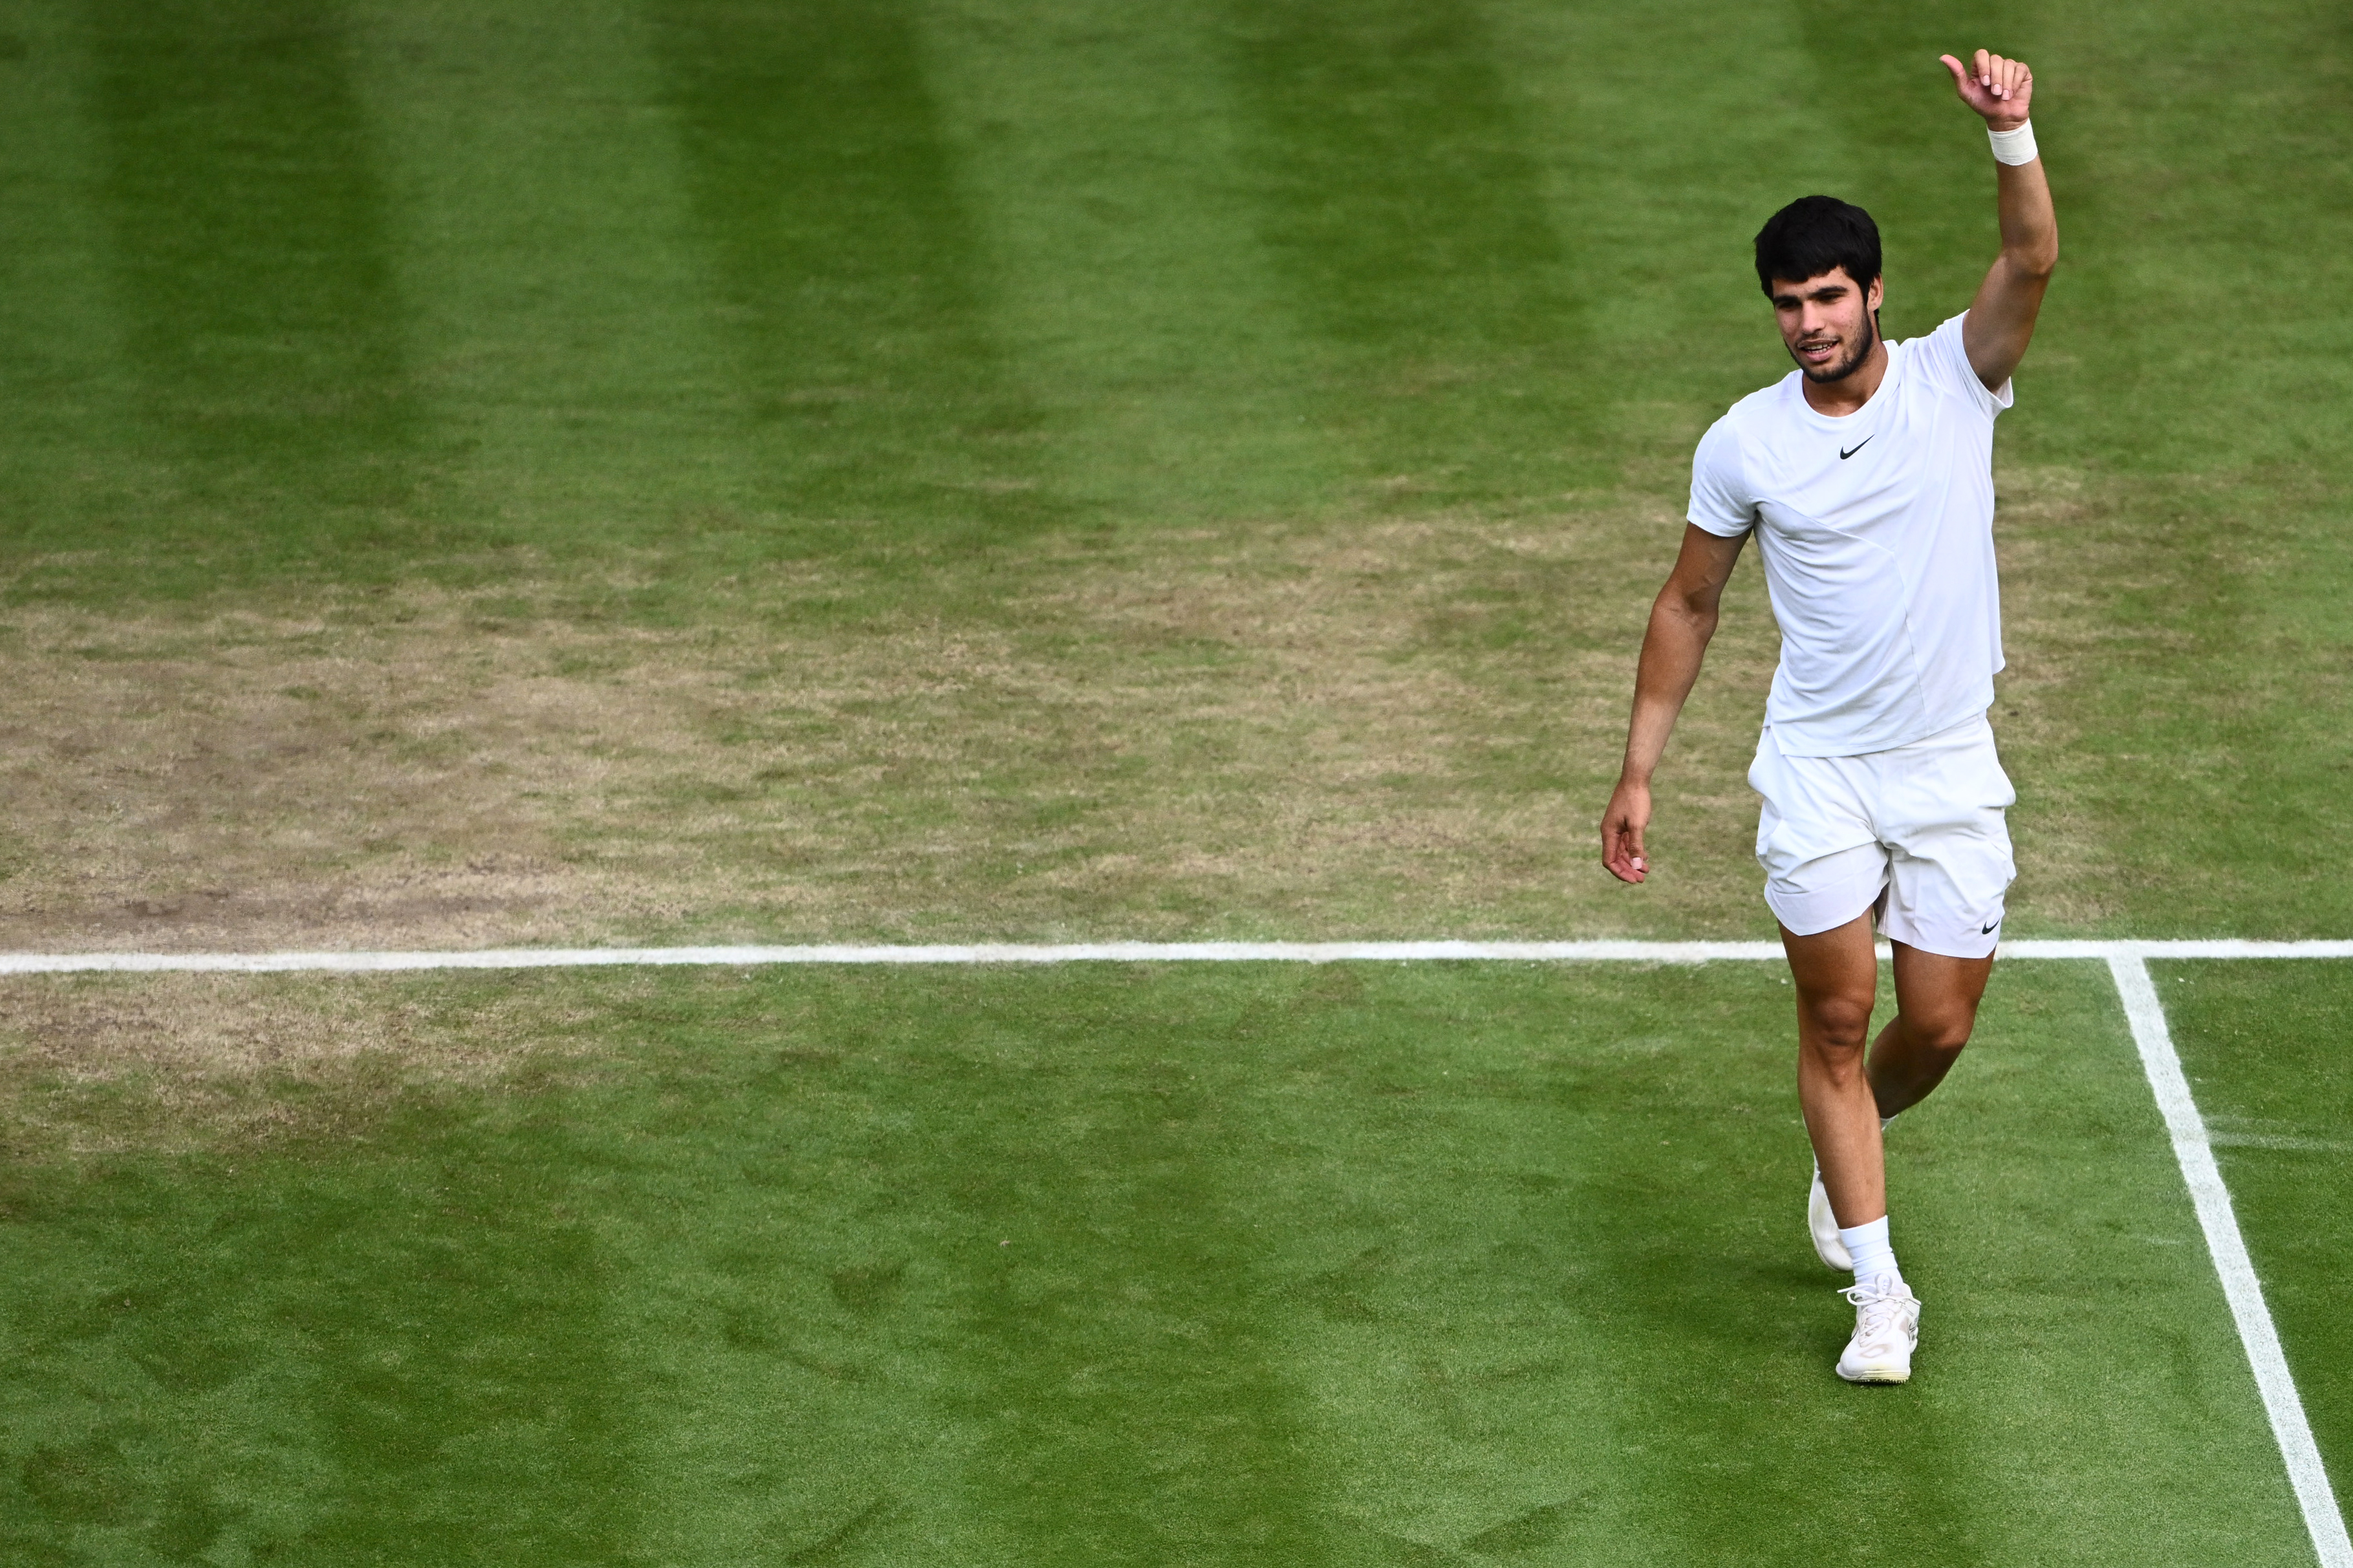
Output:
[[682,628],[553,571],[16,609],[0,945],[1751,931],[1753,567],[1666,872],[1588,865],[1675,529],[1056,541],[906,604],[776,569]]

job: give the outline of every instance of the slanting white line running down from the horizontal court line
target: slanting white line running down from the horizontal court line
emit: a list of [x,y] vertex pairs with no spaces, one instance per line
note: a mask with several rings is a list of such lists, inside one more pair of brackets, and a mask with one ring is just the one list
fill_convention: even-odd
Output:
[[2327,1469],[2320,1465],[2313,1427],[2304,1420],[2304,1399],[2297,1396],[2297,1380],[2287,1373],[2280,1331],[2264,1307],[2264,1286],[2247,1258],[2247,1241],[2238,1234],[2231,1190],[2221,1182],[2205,1119],[2191,1098],[2191,1081],[2181,1074],[2181,1058],[2174,1056],[2174,1037],[2165,1027],[2165,1006],[2148,980],[2148,964],[2139,957],[2111,957],[2108,973],[2115,976],[2115,994],[2125,999],[2132,1044],[2141,1048],[2141,1070],[2148,1072],[2148,1088],[2165,1112],[2165,1131],[2174,1138],[2174,1161],[2181,1164],[2181,1180],[2188,1182],[2198,1225],[2214,1255],[2214,1272],[2221,1274],[2221,1293],[2231,1302],[2231,1316],[2238,1319],[2238,1342],[2247,1347],[2247,1363],[2254,1366],[2254,1387],[2264,1394],[2271,1436],[2280,1441],[2280,1458],[2287,1460],[2287,1481],[2297,1488],[2313,1552],[2320,1554],[2320,1568],[2353,1568],[2353,1542],[2346,1540],[2337,1493],[2329,1490]]

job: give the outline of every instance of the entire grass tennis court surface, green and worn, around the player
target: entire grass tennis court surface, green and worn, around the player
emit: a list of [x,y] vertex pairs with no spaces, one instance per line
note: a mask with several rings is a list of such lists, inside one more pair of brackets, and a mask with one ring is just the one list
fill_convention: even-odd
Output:
[[[1748,235],[1958,310],[1979,33],[2009,931],[2353,936],[2325,9],[0,0],[0,947],[1769,936],[1753,569],[1591,823]],[[2153,971],[2346,1495],[2346,964]],[[0,1559],[2313,1561],[2101,966],[1894,1133],[1904,1389],[1788,1011],[7,978]]]

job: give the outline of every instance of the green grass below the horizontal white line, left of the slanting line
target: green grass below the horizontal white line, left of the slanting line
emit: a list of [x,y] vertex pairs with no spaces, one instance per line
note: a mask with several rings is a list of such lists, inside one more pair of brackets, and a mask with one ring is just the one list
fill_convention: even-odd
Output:
[[518,1065],[16,1084],[12,1561],[2304,1561],[2097,966],[1894,1138],[1892,1392],[1774,966],[355,985]]

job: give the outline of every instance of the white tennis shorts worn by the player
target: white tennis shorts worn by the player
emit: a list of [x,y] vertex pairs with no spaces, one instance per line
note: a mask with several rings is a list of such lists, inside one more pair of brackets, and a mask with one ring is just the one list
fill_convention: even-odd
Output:
[[1765,903],[1793,933],[1873,910],[1887,940],[1993,952],[2017,877],[2002,820],[2017,790],[1984,715],[1868,757],[1784,757],[1767,724],[1748,788],[1765,797]]

